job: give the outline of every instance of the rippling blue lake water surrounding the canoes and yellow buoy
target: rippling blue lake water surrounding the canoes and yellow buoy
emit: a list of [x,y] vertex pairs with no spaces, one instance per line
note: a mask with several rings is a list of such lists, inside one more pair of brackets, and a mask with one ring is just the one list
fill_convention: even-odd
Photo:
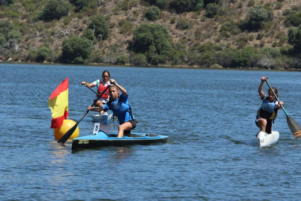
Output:
[[[166,144],[57,145],[49,96],[69,77],[69,118],[76,122],[94,97],[80,82],[104,70],[129,94],[139,120],[133,132],[168,135]],[[273,124],[279,142],[256,146],[255,117],[266,75],[301,124],[300,73],[2,63],[0,200],[298,200],[301,141],[280,110]],[[80,136],[93,127],[86,115]],[[117,128],[112,120],[101,125]]]

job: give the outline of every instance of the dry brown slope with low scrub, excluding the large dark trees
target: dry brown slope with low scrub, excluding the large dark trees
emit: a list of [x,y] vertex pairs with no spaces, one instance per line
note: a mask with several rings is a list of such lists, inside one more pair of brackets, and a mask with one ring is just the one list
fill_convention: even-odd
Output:
[[[82,9],[78,9],[74,5],[77,1],[63,0],[68,6],[70,5],[66,16],[58,20],[37,20],[48,1],[2,0],[4,6],[0,7],[1,20],[9,21],[15,32],[5,36],[5,30],[2,29],[1,35],[0,28],[0,60],[69,61],[62,58],[65,55],[62,56],[63,41],[71,36],[81,37],[89,26],[91,27],[89,24],[93,17],[101,14],[109,28],[108,37],[92,38],[92,53],[83,61],[79,60],[79,63],[82,61],[196,67],[301,68],[300,51],[296,51],[298,46],[288,43],[290,27],[297,26],[287,24],[287,15],[285,15],[285,12],[294,10],[298,14],[296,20],[301,21],[299,0],[204,0],[201,9],[192,8],[193,11],[185,12],[172,9],[173,0],[162,0],[160,2],[165,2],[165,5],[160,8],[157,19],[148,20],[145,13],[149,8],[159,5],[159,1],[91,0]],[[197,1],[201,0],[190,2]],[[216,12],[211,10],[214,15],[209,16],[210,10],[208,10],[209,6],[206,8],[206,3],[207,5],[216,3],[218,10]],[[271,11],[272,20],[265,21],[259,28],[241,28],[242,21],[247,19],[250,9],[256,8],[257,5]],[[149,52],[139,52],[135,49],[133,30],[143,23],[163,25],[168,31],[167,40],[172,46],[172,52],[169,52],[166,58],[160,57],[156,60],[149,56]],[[267,50],[270,51],[269,55],[265,55]],[[241,52],[249,56],[237,55]],[[145,55],[145,57],[142,55],[144,58],[141,62],[138,62],[135,57],[138,53]],[[163,55],[158,51],[155,54]]]

